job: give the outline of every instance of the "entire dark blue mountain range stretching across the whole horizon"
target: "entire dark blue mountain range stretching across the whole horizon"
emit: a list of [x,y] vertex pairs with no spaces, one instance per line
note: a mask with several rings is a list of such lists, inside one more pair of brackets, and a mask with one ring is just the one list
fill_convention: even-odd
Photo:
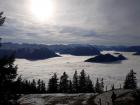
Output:
[[75,56],[92,56],[100,54],[100,51],[125,51],[140,52],[140,46],[104,46],[88,44],[68,44],[68,45],[43,45],[43,44],[18,44],[2,43],[0,56],[2,53],[16,52],[17,58],[25,59],[47,59],[60,54],[71,54]]

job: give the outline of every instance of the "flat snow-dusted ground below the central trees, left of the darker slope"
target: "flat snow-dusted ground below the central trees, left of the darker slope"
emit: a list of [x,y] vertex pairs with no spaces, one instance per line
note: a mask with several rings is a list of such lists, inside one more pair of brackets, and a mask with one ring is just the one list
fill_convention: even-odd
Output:
[[21,105],[87,105],[94,94],[30,94],[19,101]]

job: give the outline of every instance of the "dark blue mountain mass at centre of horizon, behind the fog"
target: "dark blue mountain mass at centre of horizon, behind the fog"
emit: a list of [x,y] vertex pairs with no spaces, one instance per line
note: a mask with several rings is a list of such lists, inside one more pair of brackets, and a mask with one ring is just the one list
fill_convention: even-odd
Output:
[[76,56],[89,56],[100,54],[100,51],[92,45],[49,45],[48,48],[61,54],[71,54]]

